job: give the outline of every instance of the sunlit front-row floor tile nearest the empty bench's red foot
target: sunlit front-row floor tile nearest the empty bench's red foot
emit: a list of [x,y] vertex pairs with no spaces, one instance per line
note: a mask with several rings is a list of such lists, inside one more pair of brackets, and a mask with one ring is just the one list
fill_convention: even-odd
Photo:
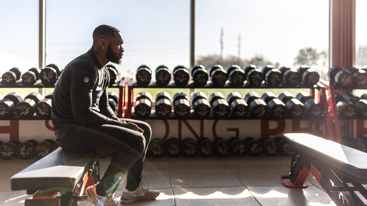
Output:
[[315,186],[307,188],[247,187],[262,206],[321,206],[335,204]]

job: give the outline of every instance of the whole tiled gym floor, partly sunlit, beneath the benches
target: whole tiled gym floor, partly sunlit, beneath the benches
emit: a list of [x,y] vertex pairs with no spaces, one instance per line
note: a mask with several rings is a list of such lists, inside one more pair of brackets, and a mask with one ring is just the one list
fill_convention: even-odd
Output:
[[[34,161],[0,160],[0,206],[24,205],[30,195],[25,191],[11,191],[10,177]],[[109,159],[101,159],[102,171],[108,164]],[[307,188],[284,187],[280,176],[289,173],[289,169],[290,157],[146,159],[143,181],[148,188],[159,189],[161,194],[156,200],[128,205],[335,205],[312,176],[308,177]],[[116,191],[117,199],[124,185],[122,182]],[[84,201],[80,205],[91,204]]]

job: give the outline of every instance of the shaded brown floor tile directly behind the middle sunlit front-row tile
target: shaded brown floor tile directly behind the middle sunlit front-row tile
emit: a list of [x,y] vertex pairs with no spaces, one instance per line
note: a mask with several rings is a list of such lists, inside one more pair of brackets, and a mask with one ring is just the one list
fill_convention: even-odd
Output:
[[173,187],[243,186],[221,158],[170,159]]

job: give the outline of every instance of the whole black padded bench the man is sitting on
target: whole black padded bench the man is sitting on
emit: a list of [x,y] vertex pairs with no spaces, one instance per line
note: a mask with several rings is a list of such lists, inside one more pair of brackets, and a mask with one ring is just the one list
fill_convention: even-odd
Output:
[[33,195],[25,200],[25,206],[77,206],[87,200],[85,189],[99,181],[98,158],[97,153],[59,147],[12,176],[11,190],[27,190]]

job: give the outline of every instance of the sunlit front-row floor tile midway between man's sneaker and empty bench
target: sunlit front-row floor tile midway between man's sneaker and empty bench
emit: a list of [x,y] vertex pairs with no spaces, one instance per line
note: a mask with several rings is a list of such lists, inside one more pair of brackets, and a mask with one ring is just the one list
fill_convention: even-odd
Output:
[[174,192],[176,206],[259,205],[246,187],[174,188]]

